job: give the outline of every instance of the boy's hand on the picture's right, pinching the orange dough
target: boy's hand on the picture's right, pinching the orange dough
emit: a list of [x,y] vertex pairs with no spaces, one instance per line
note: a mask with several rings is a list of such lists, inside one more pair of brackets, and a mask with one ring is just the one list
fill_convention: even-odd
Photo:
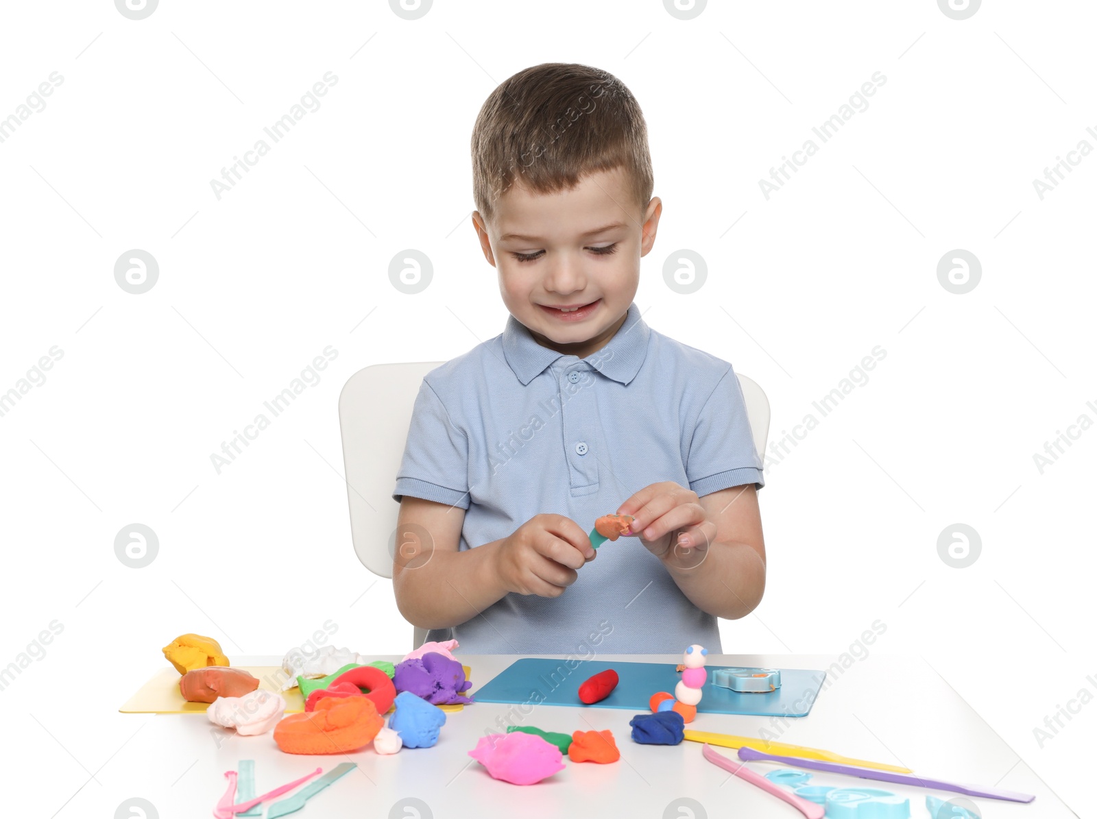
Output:
[[699,500],[697,492],[672,480],[644,487],[618,508],[617,514],[636,519],[623,536],[638,537],[666,564],[692,568],[716,539],[716,524]]

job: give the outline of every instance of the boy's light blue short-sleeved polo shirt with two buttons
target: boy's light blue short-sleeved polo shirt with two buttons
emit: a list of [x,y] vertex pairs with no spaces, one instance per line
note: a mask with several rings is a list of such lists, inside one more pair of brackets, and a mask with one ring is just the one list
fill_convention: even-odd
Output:
[[[465,510],[461,550],[542,513],[590,532],[659,481],[698,496],[765,485],[732,365],[652,330],[633,303],[586,359],[506,330],[430,371],[415,401],[393,498]],[[698,567],[704,570],[704,565]],[[558,598],[510,593],[472,619],[430,629],[462,653],[722,653],[716,618],[635,537],[599,547]]]

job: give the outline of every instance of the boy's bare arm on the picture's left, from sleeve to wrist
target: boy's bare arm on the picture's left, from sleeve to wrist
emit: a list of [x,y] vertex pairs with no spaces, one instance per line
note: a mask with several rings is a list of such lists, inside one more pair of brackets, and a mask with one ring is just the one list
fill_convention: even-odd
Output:
[[507,590],[495,570],[493,541],[460,551],[465,510],[405,494],[396,524],[393,592],[404,618],[420,628],[472,619]]

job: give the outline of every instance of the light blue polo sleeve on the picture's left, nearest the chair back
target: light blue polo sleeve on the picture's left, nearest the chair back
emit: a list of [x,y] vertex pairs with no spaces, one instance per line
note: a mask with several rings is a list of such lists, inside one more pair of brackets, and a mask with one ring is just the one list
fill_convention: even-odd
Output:
[[468,509],[468,439],[423,379],[411,408],[393,500],[405,494]]

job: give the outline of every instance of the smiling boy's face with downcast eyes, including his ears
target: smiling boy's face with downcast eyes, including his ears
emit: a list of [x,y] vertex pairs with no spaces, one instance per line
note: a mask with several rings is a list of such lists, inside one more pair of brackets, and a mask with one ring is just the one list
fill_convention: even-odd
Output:
[[[583,359],[624,323],[661,212],[657,196],[637,208],[624,172],[614,169],[555,194],[516,183],[490,223],[477,211],[473,225],[510,314],[542,346]],[[572,314],[554,309],[576,305],[583,307]]]

